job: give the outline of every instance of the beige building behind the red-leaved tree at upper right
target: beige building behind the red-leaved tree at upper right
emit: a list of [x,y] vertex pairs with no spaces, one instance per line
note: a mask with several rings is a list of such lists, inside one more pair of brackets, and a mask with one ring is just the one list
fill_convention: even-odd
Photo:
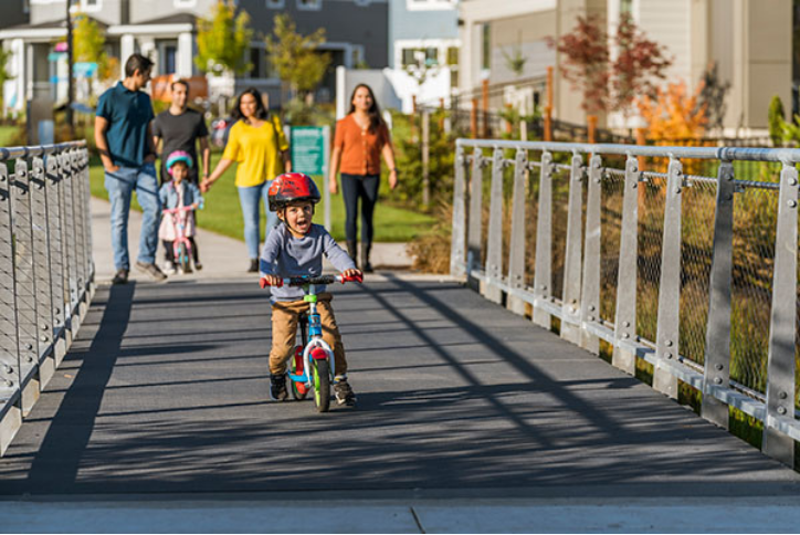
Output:
[[[578,15],[597,14],[613,33],[620,14],[630,13],[644,34],[674,59],[666,82],[684,81],[690,90],[717,64],[730,83],[724,126],[727,130],[767,126],[773,95],[790,103],[792,82],[792,3],[785,0],[462,0],[460,3],[462,91],[517,77],[543,76],[555,69],[554,115],[583,123],[581,95],[558,71],[558,56],[547,44],[569,33]],[[524,74],[513,74],[506,56],[522,50]],[[612,50],[613,54],[614,51]],[[621,116],[601,124],[628,127]]]

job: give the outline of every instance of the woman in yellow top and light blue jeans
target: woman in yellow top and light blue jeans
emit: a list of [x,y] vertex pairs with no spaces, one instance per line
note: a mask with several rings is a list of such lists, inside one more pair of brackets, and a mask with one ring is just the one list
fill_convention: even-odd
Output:
[[239,95],[232,115],[235,124],[228,135],[228,145],[222,159],[213,172],[202,181],[200,189],[203,192],[208,191],[234,161],[238,162],[235,183],[244,216],[244,242],[250,254],[248,271],[257,272],[261,200],[264,200],[269,234],[277,225],[277,216],[269,210],[266,193],[276,176],[292,170],[292,161],[281,120],[266,111],[261,93],[256,88],[249,87]]

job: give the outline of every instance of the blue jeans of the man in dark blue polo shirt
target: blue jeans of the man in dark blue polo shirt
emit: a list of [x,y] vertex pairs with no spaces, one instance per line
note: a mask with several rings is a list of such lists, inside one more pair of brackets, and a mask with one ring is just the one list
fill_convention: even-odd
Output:
[[129,270],[128,255],[128,214],[130,197],[136,190],[136,198],[141,206],[141,234],[139,238],[139,262],[151,264],[156,261],[158,246],[158,222],[161,216],[161,202],[158,199],[158,179],[156,166],[145,164],[141,167],[120,167],[114,172],[106,171],[105,186],[112,201],[112,249],[114,266],[117,270]]

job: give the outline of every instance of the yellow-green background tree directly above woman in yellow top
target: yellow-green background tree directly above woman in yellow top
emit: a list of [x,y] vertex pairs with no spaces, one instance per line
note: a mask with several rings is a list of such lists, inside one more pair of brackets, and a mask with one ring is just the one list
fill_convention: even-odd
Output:
[[200,71],[218,76],[225,72],[245,73],[253,67],[245,60],[252,38],[246,11],[236,15],[232,0],[219,0],[209,19],[198,20],[194,64]]

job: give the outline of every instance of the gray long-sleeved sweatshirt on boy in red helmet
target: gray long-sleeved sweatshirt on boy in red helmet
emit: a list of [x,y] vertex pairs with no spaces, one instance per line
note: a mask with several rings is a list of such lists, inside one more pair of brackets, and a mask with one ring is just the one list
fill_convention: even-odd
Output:
[[[323,254],[339,271],[355,270],[356,263],[336,244],[325,227],[312,224],[312,229],[303,238],[294,238],[285,224],[275,227],[266,238],[261,251],[262,275],[277,275],[282,279],[291,276],[318,276],[323,274]],[[302,287],[273,287],[272,302],[301,301]],[[325,286],[316,287],[317,293]]]

